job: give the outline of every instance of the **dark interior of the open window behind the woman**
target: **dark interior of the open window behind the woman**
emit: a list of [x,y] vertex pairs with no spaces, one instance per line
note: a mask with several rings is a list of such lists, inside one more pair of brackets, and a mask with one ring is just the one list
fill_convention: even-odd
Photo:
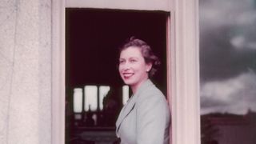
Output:
[[[127,38],[143,39],[158,55],[162,65],[152,81],[166,94],[167,17],[162,11],[66,9],[66,144],[114,142],[124,85],[118,47]],[[110,86],[103,108],[98,100],[97,110],[74,113],[73,90],[88,85]]]

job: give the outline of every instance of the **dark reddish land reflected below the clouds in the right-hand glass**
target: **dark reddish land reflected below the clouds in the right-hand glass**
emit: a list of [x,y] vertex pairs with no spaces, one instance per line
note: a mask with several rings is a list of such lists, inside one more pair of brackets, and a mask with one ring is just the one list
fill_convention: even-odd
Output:
[[223,142],[223,139],[227,143],[250,144],[256,142],[254,134],[256,134],[256,112],[254,111],[248,110],[246,114],[201,115],[202,144],[218,144]]

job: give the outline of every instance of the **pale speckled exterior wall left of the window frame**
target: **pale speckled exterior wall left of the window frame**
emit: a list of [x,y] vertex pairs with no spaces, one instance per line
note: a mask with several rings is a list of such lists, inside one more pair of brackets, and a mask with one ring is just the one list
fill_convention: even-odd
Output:
[[51,141],[51,1],[0,2],[0,143]]

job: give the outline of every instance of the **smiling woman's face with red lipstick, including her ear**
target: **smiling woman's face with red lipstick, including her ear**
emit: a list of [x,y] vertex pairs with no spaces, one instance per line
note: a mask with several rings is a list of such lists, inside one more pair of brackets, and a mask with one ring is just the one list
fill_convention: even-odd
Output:
[[126,85],[139,86],[146,81],[151,67],[151,64],[146,64],[138,47],[130,46],[120,53],[119,74]]

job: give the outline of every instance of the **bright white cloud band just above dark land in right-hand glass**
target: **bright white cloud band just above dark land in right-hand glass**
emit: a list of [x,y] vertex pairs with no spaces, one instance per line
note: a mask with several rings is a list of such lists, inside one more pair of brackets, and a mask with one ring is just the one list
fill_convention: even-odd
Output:
[[256,111],[256,74],[253,70],[235,78],[202,84],[202,114],[245,114],[249,109]]

